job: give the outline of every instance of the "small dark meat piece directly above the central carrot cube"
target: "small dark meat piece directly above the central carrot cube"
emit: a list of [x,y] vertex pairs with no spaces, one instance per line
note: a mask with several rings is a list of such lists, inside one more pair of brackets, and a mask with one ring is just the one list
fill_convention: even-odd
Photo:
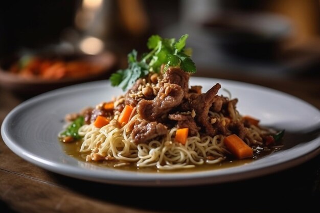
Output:
[[169,119],[177,121],[176,127],[180,128],[189,128],[189,135],[195,136],[200,130],[200,127],[197,126],[193,117],[190,114],[169,114]]

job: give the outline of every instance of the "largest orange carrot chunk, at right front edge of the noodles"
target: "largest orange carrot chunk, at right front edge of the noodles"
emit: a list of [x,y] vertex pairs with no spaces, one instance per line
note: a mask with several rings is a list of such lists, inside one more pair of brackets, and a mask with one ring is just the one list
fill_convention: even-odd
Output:
[[224,138],[224,145],[237,158],[247,158],[254,155],[254,151],[236,134]]

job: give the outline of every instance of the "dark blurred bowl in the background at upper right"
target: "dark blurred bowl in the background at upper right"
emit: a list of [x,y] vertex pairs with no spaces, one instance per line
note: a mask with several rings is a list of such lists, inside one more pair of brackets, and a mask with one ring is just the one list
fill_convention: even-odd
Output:
[[288,19],[272,13],[225,12],[203,22],[216,46],[240,58],[273,59],[292,29]]

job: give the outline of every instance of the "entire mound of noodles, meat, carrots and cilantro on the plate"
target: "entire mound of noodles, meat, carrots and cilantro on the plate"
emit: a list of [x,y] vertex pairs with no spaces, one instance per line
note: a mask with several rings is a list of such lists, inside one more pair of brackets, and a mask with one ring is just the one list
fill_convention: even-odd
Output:
[[112,86],[126,92],[68,114],[71,124],[59,134],[60,140],[80,140],[79,152],[86,153],[87,161],[157,170],[257,158],[281,146],[284,131],[241,115],[238,99],[217,94],[219,83],[204,92],[199,85],[189,85],[196,67],[185,48],[187,38],[153,35],[147,43],[150,52],[140,60],[135,50],[128,54],[128,68],[110,77]]

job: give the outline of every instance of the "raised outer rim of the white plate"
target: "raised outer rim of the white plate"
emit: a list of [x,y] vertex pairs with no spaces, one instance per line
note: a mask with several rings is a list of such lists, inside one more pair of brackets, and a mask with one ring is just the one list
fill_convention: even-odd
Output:
[[[217,78],[203,78],[203,77],[191,77],[191,82],[196,80],[199,82],[205,82],[205,81],[216,81],[216,82],[227,82],[229,84],[233,85],[240,85],[240,86],[250,86],[254,89],[263,89],[268,92],[276,92],[280,95],[284,95],[289,98],[293,98],[295,101],[302,102],[304,104],[307,104],[309,107],[314,108],[318,113],[320,111],[310,103],[297,98],[295,96],[292,96],[291,94],[264,87],[257,84],[251,84],[241,81],[233,81],[233,80],[225,80],[225,79],[217,79]],[[13,108],[5,117],[2,127],[1,127],[1,134],[3,137],[3,140],[5,144],[9,147],[10,150],[12,150],[16,155],[20,156],[21,158],[25,159],[26,161],[29,161],[35,165],[37,165],[40,168],[43,168],[45,170],[49,170],[61,175],[74,177],[78,179],[84,179],[84,180],[90,180],[90,181],[97,181],[97,182],[104,182],[104,183],[111,183],[111,184],[121,184],[121,185],[136,185],[136,186],[184,186],[184,185],[200,185],[200,184],[212,184],[212,183],[222,183],[222,182],[230,182],[230,181],[236,181],[236,180],[243,180],[248,178],[254,178],[259,177],[267,174],[272,174],[277,171],[283,170],[283,169],[289,169],[294,167],[295,165],[301,164],[313,157],[315,157],[317,154],[320,153],[320,144],[317,145],[316,149],[313,149],[307,153],[304,153],[301,156],[294,157],[290,160],[286,160],[281,162],[280,164],[271,164],[267,167],[263,168],[252,168],[252,167],[245,167],[246,165],[240,165],[237,167],[227,168],[227,169],[221,169],[219,171],[223,171],[223,173],[218,175],[214,175],[214,171],[201,171],[201,172],[179,172],[179,173],[136,173],[131,171],[121,171],[121,170],[114,170],[114,169],[107,169],[103,168],[102,173],[98,170],[98,175],[94,176],[89,175],[87,173],[87,170],[83,170],[79,167],[74,167],[73,165],[65,165],[63,164],[63,168],[59,168],[59,165],[61,163],[57,162],[50,162],[41,159],[41,156],[35,156],[34,154],[30,153],[27,150],[24,150],[22,147],[19,147],[18,144],[13,140],[13,138],[10,138],[9,133],[7,132],[7,126],[10,121],[10,117],[12,117],[15,113],[17,113],[21,108],[27,107],[28,105],[32,105],[36,102],[41,102],[41,100],[49,99],[54,96],[62,96],[65,93],[70,93],[75,90],[79,91],[81,89],[86,90],[87,88],[90,88],[92,86],[106,86],[107,84],[110,84],[108,80],[100,80],[100,81],[93,81],[93,82],[87,82],[87,83],[81,83],[76,84],[72,86],[67,86],[59,89],[55,89],[49,92],[45,92],[42,94],[39,94],[38,96],[35,96],[29,100],[26,100],[19,105],[17,105],[15,108]],[[316,140],[315,142],[320,143],[320,137],[317,137],[313,140]],[[311,141],[313,141],[311,140]],[[64,154],[64,153],[63,153]],[[249,163],[250,164],[250,163]],[[242,171],[238,171],[237,175],[231,175],[234,174],[234,168],[242,167]],[[268,170],[267,170],[268,169]],[[118,171],[118,172],[115,172]],[[251,174],[253,171],[254,174]],[[107,179],[103,178],[103,174],[107,172],[109,176]],[[113,174],[116,173],[116,174]],[[113,175],[112,175],[113,174]],[[120,174],[120,176],[119,176]],[[182,175],[188,174],[186,178],[182,178]],[[125,175],[128,175],[128,177],[124,177]],[[208,179],[209,178],[209,179]]]

